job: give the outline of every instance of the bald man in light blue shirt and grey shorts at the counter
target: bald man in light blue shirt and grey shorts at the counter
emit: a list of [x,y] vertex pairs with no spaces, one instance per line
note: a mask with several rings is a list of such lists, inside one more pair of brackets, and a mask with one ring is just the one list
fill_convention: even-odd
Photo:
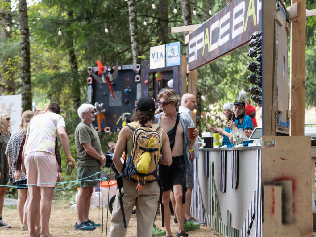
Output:
[[[186,93],[182,95],[181,98],[181,106],[179,106],[179,112],[183,117],[186,117],[190,121],[190,127],[195,127],[194,122],[191,118],[191,111],[195,110],[197,107],[197,99],[194,94]],[[200,225],[205,225],[205,222],[198,222],[191,216],[191,194],[194,187],[194,168],[193,161],[195,158],[198,158],[198,143],[195,141],[192,147],[189,147],[190,151],[190,160],[191,167],[189,173],[186,174],[186,193],[185,193],[185,219],[193,223],[199,223]],[[175,202],[173,193],[171,193],[171,202],[172,204]],[[174,206],[174,204],[173,204]],[[176,224],[178,222],[177,217],[175,216],[173,223]]]

